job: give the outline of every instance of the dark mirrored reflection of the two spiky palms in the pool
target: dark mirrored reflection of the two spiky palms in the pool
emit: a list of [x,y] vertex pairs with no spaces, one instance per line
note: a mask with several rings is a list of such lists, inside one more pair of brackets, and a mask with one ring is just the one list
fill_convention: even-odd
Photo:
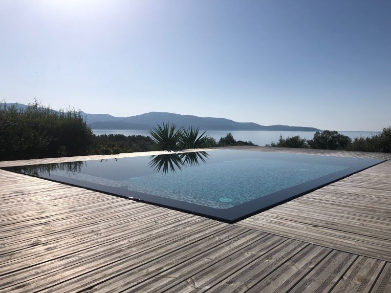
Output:
[[151,156],[151,161],[148,164],[156,172],[163,174],[171,171],[175,172],[175,168],[181,170],[182,167],[199,166],[199,160],[206,163],[209,154],[206,151],[195,151],[186,153],[171,153],[164,155]]

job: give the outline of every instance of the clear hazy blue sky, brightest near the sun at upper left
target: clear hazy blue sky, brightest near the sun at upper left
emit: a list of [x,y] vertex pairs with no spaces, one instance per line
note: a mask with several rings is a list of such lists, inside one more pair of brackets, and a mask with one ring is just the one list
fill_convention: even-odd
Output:
[[391,1],[2,0],[0,100],[391,125]]

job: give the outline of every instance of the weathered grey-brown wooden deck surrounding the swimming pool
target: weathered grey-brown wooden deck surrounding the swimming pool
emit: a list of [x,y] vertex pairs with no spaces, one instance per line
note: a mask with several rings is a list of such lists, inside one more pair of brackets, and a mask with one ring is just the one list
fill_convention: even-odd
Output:
[[[117,157],[133,155],[146,153]],[[64,161],[75,158],[0,167]],[[0,170],[0,292],[391,292],[390,171],[231,225]]]

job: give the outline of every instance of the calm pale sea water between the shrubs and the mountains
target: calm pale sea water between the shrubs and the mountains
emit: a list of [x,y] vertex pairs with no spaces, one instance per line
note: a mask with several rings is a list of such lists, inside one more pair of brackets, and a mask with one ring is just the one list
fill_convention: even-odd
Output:
[[[93,129],[94,134],[123,134],[123,135],[149,135],[148,130],[116,130],[116,129]],[[231,132],[236,140],[249,141],[251,140],[254,144],[264,146],[271,142],[277,142],[280,138],[280,133],[283,138],[288,136],[300,135],[301,138],[312,139],[315,132],[312,131],[265,131],[265,130],[209,130],[207,134],[215,138],[217,141],[220,137],[225,136],[228,132]],[[355,137],[368,137],[371,134],[378,134],[379,132],[373,131],[339,131],[344,135],[351,138]]]

